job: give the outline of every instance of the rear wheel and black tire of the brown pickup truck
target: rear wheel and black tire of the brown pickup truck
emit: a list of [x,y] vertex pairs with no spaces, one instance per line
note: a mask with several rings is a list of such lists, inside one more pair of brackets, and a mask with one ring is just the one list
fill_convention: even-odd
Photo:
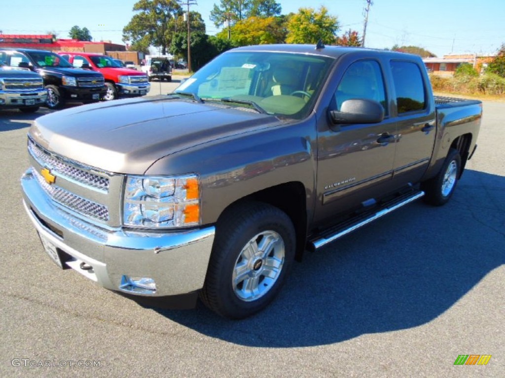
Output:
[[461,156],[451,148],[438,174],[421,183],[425,192],[424,202],[433,206],[445,205],[456,189],[461,175]]

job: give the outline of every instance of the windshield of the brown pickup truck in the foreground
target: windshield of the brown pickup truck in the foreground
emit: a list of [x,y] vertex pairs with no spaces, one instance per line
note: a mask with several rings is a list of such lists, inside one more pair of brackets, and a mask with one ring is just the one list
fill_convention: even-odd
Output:
[[293,118],[312,109],[333,58],[282,52],[227,52],[181,84],[176,93],[202,100],[253,102]]

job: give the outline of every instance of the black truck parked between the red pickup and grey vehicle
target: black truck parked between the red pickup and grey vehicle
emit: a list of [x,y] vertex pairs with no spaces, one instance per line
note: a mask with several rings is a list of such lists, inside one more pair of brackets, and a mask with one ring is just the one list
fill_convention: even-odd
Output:
[[3,48],[0,49],[0,60],[7,66],[40,74],[47,90],[46,105],[51,109],[57,109],[67,101],[97,102],[107,93],[102,74],[76,69],[51,51]]

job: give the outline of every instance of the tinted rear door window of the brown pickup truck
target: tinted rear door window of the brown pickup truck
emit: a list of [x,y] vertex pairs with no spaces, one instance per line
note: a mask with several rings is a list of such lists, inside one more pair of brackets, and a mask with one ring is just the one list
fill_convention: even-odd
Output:
[[426,109],[423,77],[419,66],[409,61],[391,61],[398,114]]

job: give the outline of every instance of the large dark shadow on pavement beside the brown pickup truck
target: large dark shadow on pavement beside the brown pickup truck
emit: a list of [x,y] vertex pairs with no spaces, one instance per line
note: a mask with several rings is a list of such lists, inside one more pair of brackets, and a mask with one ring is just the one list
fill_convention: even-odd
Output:
[[255,347],[332,344],[417,327],[505,264],[504,239],[505,177],[467,170],[446,206],[416,202],[307,253],[254,317],[229,321],[203,306],[155,310],[201,334]]

